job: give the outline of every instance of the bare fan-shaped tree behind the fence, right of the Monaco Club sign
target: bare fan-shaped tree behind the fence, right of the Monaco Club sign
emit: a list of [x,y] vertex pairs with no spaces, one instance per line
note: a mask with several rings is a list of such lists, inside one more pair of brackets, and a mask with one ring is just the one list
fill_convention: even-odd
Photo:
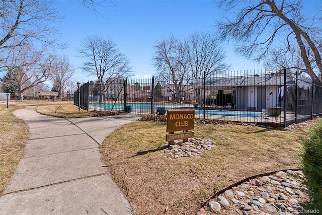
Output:
[[[185,41],[189,47],[189,69],[194,83],[203,77],[225,74],[229,65],[225,63],[225,50],[215,35],[209,31],[191,33]],[[195,89],[197,103],[200,103],[200,89]]]

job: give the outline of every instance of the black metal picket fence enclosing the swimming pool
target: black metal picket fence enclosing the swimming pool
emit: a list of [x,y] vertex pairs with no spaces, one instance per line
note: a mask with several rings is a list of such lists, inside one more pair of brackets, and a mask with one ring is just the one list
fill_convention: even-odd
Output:
[[[131,114],[193,109],[201,119],[286,126],[322,114],[322,87],[282,70],[246,70],[200,79],[111,79],[80,88],[81,108]],[[77,105],[78,91],[74,93]]]

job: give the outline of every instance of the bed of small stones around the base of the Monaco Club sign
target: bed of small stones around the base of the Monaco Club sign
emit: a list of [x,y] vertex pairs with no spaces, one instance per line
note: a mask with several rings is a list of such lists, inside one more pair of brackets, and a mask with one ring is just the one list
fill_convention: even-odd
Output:
[[165,157],[171,159],[189,158],[199,156],[214,148],[215,142],[211,139],[192,137],[187,142],[174,140],[174,145],[160,147],[163,149]]

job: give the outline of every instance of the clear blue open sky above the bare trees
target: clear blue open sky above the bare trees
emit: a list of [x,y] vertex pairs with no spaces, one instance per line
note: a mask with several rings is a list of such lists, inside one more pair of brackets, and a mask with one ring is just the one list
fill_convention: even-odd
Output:
[[[99,35],[112,38],[134,67],[135,77],[148,78],[156,73],[151,65],[153,46],[157,40],[175,35],[186,37],[197,30],[215,31],[214,23],[220,17],[214,1],[113,1],[117,8],[98,8],[99,13],[85,8],[77,1],[58,1],[60,42],[69,43],[67,50],[59,52],[68,56],[80,70],[85,59],[77,57],[76,48],[86,36]],[[237,57],[233,47],[226,47],[226,62],[232,70],[259,69],[260,64]],[[84,81],[88,79],[85,75]]]

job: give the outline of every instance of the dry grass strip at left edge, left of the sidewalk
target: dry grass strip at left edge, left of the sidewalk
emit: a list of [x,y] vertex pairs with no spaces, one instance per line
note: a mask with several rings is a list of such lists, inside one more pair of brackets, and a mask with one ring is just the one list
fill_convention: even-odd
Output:
[[13,176],[24,154],[28,126],[13,112],[22,106],[0,104],[0,196]]

